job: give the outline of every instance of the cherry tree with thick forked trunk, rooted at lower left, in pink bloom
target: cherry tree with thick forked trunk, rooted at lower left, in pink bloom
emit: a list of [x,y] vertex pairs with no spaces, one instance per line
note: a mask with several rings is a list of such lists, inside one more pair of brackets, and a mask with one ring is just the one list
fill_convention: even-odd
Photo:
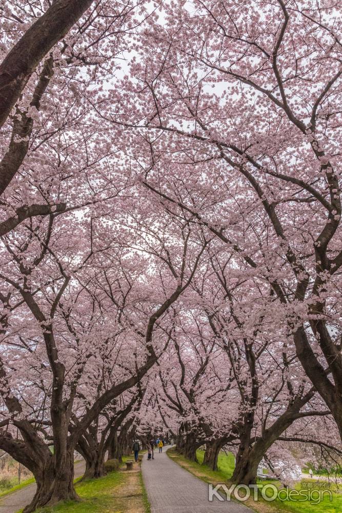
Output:
[[[18,389],[11,387],[15,370],[6,360],[2,364],[3,425],[18,428],[23,437],[15,441],[3,433],[2,447],[30,468],[38,485],[26,511],[77,498],[73,453],[79,438],[107,405],[142,380],[163,352],[169,327],[159,327],[160,320],[191,283],[207,245],[192,233],[189,223],[176,225],[165,219],[163,226],[160,216],[158,224],[155,215],[147,219],[145,211],[134,211],[134,201],[129,213],[140,232],[129,224],[124,229],[124,218],[113,220],[112,206],[90,223],[74,217],[73,225],[61,219],[57,227],[55,219],[47,223],[43,218],[38,225],[22,227],[3,239],[5,347],[14,338],[19,354],[26,350],[31,356],[33,350],[49,374],[49,392],[45,391],[49,404],[44,410],[38,408],[34,420],[27,416]],[[117,226],[122,227],[120,234]],[[171,242],[167,233],[172,233]],[[189,259],[193,251],[197,252],[194,260]],[[144,254],[149,255],[149,265]],[[155,330],[160,331],[156,344]],[[29,343],[32,331],[34,340]],[[17,332],[24,342],[17,340]],[[6,358],[6,349],[3,354]],[[79,400],[87,398],[86,376],[92,368],[92,372],[98,365],[102,368],[106,358],[110,372],[105,374],[106,386],[82,407]],[[24,361],[22,354],[19,361]],[[27,370],[25,374],[27,383]],[[53,455],[39,436],[46,422]]]

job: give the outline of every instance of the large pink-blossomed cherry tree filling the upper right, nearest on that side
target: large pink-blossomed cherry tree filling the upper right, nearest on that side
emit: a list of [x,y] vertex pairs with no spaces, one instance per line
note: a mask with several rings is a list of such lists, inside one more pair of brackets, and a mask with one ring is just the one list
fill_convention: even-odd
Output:
[[103,119],[126,129],[146,187],[268,281],[342,433],[340,13],[213,0],[165,17],[158,30],[150,19],[122,109]]

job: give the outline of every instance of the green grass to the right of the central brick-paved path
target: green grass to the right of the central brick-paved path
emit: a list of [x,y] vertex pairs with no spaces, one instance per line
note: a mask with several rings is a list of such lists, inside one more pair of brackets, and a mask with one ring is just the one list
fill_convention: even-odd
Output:
[[[197,460],[199,463],[194,463],[183,456],[180,456],[175,449],[169,449],[167,455],[172,458],[176,463],[186,468],[194,476],[206,481],[207,483],[223,483],[229,481],[234,470],[234,457],[231,453],[227,455],[224,452],[220,452],[218,457],[218,471],[211,470],[206,465],[202,465],[204,459],[204,451],[197,451]],[[301,483],[295,486],[295,489],[300,490],[304,483],[312,483],[313,480],[305,479]],[[280,487],[280,483],[277,481],[260,481],[258,484],[275,484]],[[341,488],[341,486],[340,486]],[[289,511],[291,513],[340,513],[342,511],[342,489],[336,489],[336,486],[331,485],[329,488],[332,491],[332,502],[327,494],[324,495],[322,502],[314,504],[313,502],[293,502],[293,501],[280,501],[275,500],[267,502],[263,498],[259,498],[257,502],[249,499],[242,503],[250,507],[257,513],[281,513]]]

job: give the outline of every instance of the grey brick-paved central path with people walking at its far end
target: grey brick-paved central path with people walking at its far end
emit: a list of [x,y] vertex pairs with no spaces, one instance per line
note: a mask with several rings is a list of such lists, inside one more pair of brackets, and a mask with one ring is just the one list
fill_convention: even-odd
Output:
[[208,485],[172,461],[165,452],[154,451],[154,460],[142,463],[143,479],[151,513],[252,513],[237,502],[208,500]]

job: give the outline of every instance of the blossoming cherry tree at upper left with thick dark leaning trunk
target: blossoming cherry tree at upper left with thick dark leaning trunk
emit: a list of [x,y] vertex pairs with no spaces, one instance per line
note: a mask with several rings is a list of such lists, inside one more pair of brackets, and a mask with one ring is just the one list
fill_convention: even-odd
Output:
[[[142,9],[140,2],[63,0],[8,2],[2,9],[1,234],[31,216],[74,207],[66,188],[84,184],[82,174],[91,178],[117,151],[105,140],[91,97],[115,82]],[[109,182],[110,173],[99,179]],[[57,195],[43,195],[39,187],[47,181],[60,187]],[[95,200],[95,190],[87,200],[83,190],[78,205]]]

